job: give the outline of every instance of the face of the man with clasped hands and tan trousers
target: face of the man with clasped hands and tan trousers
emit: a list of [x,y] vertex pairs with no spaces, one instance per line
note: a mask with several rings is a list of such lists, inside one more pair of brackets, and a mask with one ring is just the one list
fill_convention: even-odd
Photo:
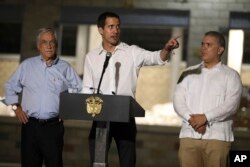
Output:
[[203,37],[201,42],[201,58],[205,63],[218,63],[223,51],[224,48],[219,45],[218,39],[216,37]]

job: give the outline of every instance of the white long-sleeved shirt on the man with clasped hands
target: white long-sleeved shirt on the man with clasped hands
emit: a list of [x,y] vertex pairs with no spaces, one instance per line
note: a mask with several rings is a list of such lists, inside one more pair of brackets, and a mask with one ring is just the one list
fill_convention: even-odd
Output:
[[[203,63],[189,67],[174,94],[174,109],[183,119],[179,137],[233,141],[232,115],[241,94],[239,74],[221,62],[211,69],[204,68]],[[190,114],[205,114],[208,125],[204,135],[189,125]]]

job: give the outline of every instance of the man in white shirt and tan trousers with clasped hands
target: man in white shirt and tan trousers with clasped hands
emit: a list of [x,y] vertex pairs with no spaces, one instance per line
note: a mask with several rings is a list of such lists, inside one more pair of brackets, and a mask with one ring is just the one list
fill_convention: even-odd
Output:
[[234,141],[232,116],[237,112],[242,84],[239,74],[222,64],[225,39],[205,33],[201,64],[187,68],[174,94],[174,108],[183,119],[180,131],[181,167],[226,167]]

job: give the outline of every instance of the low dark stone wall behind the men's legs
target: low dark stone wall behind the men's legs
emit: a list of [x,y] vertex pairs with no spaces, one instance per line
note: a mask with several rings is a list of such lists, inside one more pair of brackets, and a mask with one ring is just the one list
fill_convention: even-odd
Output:
[[[91,122],[87,121],[65,121],[65,167],[89,166],[90,126]],[[137,167],[179,167],[179,127],[137,125],[137,130]],[[20,123],[16,118],[0,117],[0,146],[0,166],[20,163]],[[232,149],[250,150],[249,130],[235,132]],[[114,142],[109,151],[109,166],[119,166]]]

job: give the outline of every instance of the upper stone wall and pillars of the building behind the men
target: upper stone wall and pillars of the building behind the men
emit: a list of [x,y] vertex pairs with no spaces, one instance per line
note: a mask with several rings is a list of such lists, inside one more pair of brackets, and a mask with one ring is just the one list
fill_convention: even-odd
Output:
[[33,36],[39,27],[58,26],[62,6],[189,10],[188,65],[199,62],[197,50],[204,32],[227,29],[231,11],[250,11],[249,0],[54,0],[53,2],[49,0],[3,0],[0,1],[1,4],[25,6],[21,43],[21,55],[24,57],[22,58],[33,56],[36,52]]

